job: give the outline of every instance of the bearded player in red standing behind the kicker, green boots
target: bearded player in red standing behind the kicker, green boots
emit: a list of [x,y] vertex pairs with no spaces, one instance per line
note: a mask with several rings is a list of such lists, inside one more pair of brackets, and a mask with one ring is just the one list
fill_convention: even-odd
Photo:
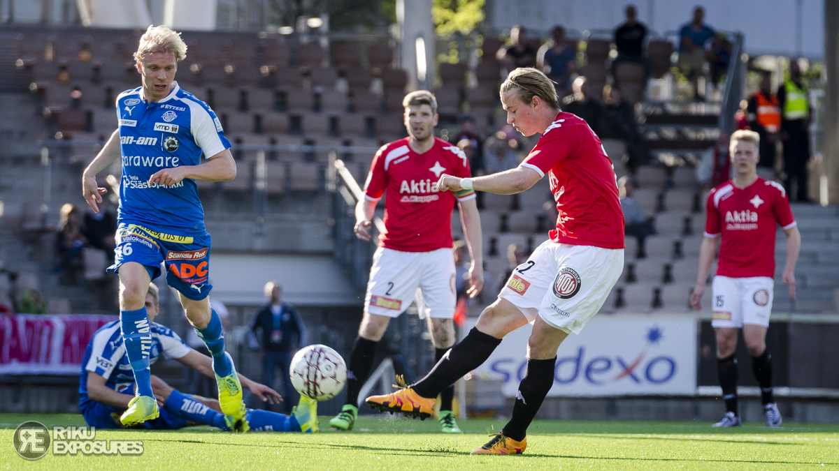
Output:
[[[430,91],[409,93],[402,105],[409,137],[378,149],[367,174],[364,199],[356,206],[356,235],[369,241],[370,220],[378,200],[387,192],[385,230],[373,254],[364,317],[350,355],[347,404],[329,422],[341,430],[351,430],[356,422],[358,392],[370,375],[376,345],[390,319],[404,313],[411,301],[416,299],[420,318],[428,318],[436,359],[454,344],[452,318],[457,300],[451,211],[455,203],[460,204],[466,246],[472,255],[469,296],[474,298],[483,285],[481,219],[475,192],[446,192],[435,186],[445,172],[470,177],[469,160],[460,148],[434,137],[437,101]],[[451,411],[456,379],[435,392],[435,397],[440,394],[440,427],[448,433],[461,432]]]

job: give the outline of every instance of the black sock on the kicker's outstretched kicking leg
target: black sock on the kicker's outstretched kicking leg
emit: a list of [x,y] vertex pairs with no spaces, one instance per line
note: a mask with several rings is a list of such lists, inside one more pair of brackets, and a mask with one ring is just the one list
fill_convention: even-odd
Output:
[[449,354],[444,355],[425,378],[411,387],[422,397],[437,397],[446,387],[487,361],[500,343],[501,339],[472,328],[466,338],[451,347]]

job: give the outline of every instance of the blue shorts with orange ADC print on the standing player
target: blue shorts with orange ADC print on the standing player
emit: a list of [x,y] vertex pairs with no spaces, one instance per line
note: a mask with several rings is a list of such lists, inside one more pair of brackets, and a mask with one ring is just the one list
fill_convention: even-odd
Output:
[[172,235],[150,230],[142,225],[120,222],[117,248],[109,272],[119,273],[126,261],[146,267],[149,277],[160,276],[165,263],[166,282],[186,298],[201,301],[210,294],[210,235]]

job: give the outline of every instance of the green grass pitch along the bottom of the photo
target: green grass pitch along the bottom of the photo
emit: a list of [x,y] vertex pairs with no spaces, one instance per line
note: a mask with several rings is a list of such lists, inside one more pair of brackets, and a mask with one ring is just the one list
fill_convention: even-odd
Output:
[[[384,416],[383,416],[384,417]],[[444,435],[436,421],[359,417],[353,432],[233,434],[211,427],[180,431],[99,431],[96,439],[143,440],[139,457],[19,458],[14,428],[36,420],[84,425],[78,415],[0,414],[0,469],[837,469],[839,424],[748,423],[712,429],[705,422],[536,421],[516,456],[470,456],[503,420],[459,421]],[[329,417],[320,417],[321,427]],[[493,428],[494,427],[494,428]]]

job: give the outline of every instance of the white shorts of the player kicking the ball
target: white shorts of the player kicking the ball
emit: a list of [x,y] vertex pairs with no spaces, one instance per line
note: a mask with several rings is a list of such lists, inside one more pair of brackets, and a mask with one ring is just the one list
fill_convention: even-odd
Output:
[[602,308],[623,272],[623,249],[571,246],[545,241],[516,267],[498,298],[519,308],[533,322],[580,334]]

